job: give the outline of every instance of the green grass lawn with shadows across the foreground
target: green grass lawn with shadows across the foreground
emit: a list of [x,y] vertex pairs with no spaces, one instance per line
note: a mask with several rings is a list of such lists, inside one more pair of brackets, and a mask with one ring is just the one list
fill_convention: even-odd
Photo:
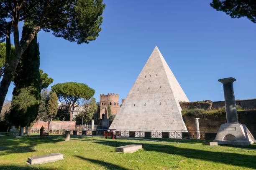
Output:
[[[2,133],[3,134],[3,133]],[[156,140],[155,138],[151,138]],[[160,139],[157,139],[160,140]],[[206,146],[202,140],[154,142],[129,138],[117,140],[97,136],[39,135],[11,138],[0,136],[0,170],[245,170],[256,168],[256,150],[229,146]],[[115,147],[142,144],[136,153],[115,153]],[[251,145],[256,148],[256,145]],[[28,157],[50,153],[64,154],[64,160],[28,165]],[[179,164],[179,161],[184,160]]]

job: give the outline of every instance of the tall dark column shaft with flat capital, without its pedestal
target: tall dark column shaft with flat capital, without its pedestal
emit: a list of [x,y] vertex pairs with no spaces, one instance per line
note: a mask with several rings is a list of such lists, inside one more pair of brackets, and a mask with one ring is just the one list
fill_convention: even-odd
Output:
[[233,89],[234,81],[236,81],[236,79],[233,77],[219,79],[219,82],[223,83],[227,123],[238,123],[236,100]]

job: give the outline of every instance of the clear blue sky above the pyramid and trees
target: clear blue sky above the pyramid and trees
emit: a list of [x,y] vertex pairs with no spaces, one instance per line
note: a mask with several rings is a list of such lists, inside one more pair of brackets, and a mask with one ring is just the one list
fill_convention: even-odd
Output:
[[[218,79],[225,77],[237,79],[236,99],[256,98],[256,24],[210,2],[104,0],[97,40],[77,45],[38,33],[40,69],[51,85],[81,82],[95,89],[96,101],[102,93],[118,93],[121,101],[157,45],[190,101],[224,100]],[[12,91],[13,83],[9,100]]]

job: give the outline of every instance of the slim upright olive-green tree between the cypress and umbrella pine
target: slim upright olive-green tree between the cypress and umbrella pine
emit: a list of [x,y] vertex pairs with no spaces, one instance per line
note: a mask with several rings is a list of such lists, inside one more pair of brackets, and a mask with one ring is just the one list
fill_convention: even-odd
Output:
[[50,120],[57,114],[58,111],[58,97],[56,92],[52,92],[48,102],[48,117]]

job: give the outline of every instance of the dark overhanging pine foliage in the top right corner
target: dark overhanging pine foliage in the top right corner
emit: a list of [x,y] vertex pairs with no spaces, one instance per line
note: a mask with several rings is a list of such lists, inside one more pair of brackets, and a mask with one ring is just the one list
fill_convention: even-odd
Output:
[[210,5],[217,11],[223,11],[231,18],[247,17],[256,23],[255,0],[212,0]]

